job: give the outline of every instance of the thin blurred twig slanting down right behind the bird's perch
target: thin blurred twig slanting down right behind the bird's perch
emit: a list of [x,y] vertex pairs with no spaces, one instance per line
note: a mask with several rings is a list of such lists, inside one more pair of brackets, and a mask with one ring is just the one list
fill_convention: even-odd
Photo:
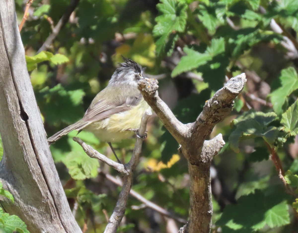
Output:
[[[110,180],[111,182],[113,182],[114,184],[118,185],[118,186],[122,186],[123,183],[120,179],[117,179],[115,177],[113,177],[110,174],[104,174],[105,177]],[[137,200],[139,200],[140,202],[144,203],[146,207],[155,210],[156,212],[166,216],[166,217],[170,217],[173,218],[174,220],[178,221],[179,223],[186,223],[186,220],[181,218],[181,217],[177,217],[175,214],[171,213],[170,211],[167,211],[166,209],[156,205],[155,203],[147,200],[145,197],[143,197],[141,194],[137,193],[136,191],[134,191],[133,189],[131,189],[130,191],[131,196],[135,197]]]

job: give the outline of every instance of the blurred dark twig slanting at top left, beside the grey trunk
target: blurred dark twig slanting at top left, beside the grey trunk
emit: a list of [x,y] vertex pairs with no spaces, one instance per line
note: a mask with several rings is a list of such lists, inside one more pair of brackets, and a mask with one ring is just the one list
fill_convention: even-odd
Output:
[[40,47],[37,53],[40,53],[41,51],[47,49],[53,42],[53,40],[58,36],[58,33],[60,32],[61,28],[64,27],[66,22],[68,21],[70,15],[77,7],[77,4],[80,0],[72,0],[69,4],[69,6],[66,8],[66,11],[64,12],[63,16],[57,23],[57,25],[54,27],[53,32],[48,36],[44,44]]

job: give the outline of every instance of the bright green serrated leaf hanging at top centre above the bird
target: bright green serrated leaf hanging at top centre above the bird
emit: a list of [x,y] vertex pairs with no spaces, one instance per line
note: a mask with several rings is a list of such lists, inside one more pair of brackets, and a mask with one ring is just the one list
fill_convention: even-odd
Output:
[[160,16],[155,18],[156,25],[153,28],[153,36],[157,37],[156,55],[158,57],[167,53],[168,56],[173,52],[175,42],[178,39],[177,32],[184,32],[187,13],[187,4],[177,0],[161,0],[156,5]]

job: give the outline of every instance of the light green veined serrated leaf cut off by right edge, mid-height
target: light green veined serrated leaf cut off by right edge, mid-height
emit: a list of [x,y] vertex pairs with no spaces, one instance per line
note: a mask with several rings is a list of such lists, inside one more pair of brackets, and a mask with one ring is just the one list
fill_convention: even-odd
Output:
[[282,114],[280,123],[285,126],[283,131],[291,136],[298,134],[298,101],[296,100],[285,113]]

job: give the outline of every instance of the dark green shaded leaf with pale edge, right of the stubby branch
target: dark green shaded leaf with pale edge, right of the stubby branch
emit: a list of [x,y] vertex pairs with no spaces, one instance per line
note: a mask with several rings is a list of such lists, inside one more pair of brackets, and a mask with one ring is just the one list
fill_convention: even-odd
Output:
[[276,119],[277,115],[273,112],[263,113],[249,110],[242,114],[242,116],[234,119],[232,125],[236,129],[230,134],[229,142],[231,148],[239,152],[238,141],[239,139],[249,139],[255,137],[263,137],[269,144],[273,145],[277,139],[279,129],[274,126],[268,126]]

